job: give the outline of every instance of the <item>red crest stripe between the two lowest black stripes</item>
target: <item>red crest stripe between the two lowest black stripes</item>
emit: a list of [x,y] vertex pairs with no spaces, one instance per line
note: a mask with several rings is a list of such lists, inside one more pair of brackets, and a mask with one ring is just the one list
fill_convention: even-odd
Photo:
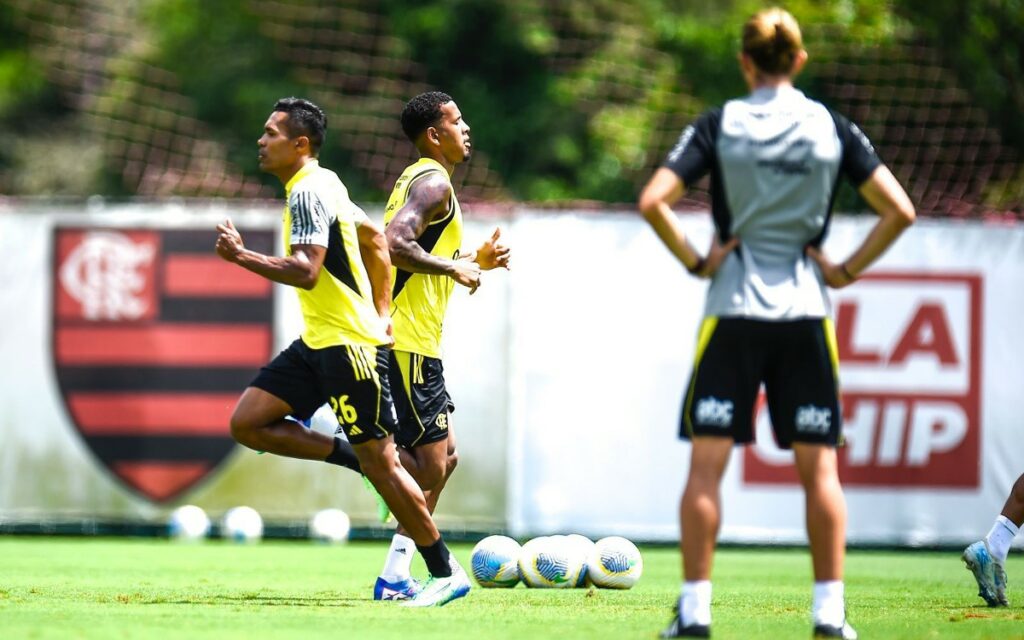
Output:
[[228,435],[238,399],[239,393],[72,393],[68,406],[86,435]]

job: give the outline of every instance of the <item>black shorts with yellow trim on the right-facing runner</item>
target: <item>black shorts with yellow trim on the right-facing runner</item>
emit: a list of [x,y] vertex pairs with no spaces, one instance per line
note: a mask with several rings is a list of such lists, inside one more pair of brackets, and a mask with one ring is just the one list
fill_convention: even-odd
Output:
[[455,411],[444,388],[444,367],[436,357],[391,351],[389,358],[398,431],[394,441],[413,449],[447,437],[449,414]]

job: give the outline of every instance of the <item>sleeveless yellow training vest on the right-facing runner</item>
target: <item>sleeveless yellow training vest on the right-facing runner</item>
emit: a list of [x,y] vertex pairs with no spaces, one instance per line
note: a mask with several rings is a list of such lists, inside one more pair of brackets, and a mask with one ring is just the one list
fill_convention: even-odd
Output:
[[[409,189],[418,179],[437,173],[450,180],[440,163],[421,158],[409,166],[394,183],[387,201],[384,224],[387,225],[409,199]],[[423,250],[443,258],[457,258],[462,247],[462,208],[452,191],[447,213],[433,220],[417,241]],[[391,319],[394,323],[394,348],[429,357],[441,356],[441,325],[455,281],[447,275],[411,273],[394,270],[391,294]]]

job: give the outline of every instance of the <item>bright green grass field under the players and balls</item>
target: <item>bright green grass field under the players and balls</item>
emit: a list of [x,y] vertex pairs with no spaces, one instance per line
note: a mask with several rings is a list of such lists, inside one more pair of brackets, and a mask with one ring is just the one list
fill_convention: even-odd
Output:
[[[470,547],[453,547],[468,565]],[[678,552],[644,548],[631,591],[475,588],[440,609],[374,602],[384,543],[236,546],[163,540],[0,538],[0,639],[653,638],[679,589]],[[414,570],[423,574],[417,560]],[[861,638],[1024,638],[1024,558],[1009,608],[989,609],[955,552],[854,551],[851,622]],[[810,570],[796,550],[723,550],[716,638],[806,638]],[[1016,580],[1015,580],[1016,579]]]

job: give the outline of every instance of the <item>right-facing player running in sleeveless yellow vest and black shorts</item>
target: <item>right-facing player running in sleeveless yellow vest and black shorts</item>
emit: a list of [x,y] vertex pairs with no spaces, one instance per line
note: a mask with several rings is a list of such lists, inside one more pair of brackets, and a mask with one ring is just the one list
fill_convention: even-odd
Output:
[[[508,268],[510,252],[500,230],[473,253],[462,253],[462,209],[452,187],[456,166],[470,157],[469,125],[452,97],[439,91],[417,95],[401,112],[401,128],[420,159],[395,182],[384,212],[391,262],[395,266],[394,350],[390,374],[398,411],[395,441],[401,464],[413,474],[433,512],[458,461],[452,412],[444,386],[441,326],[455,285],[470,293],[480,271]],[[413,537],[399,521],[374,598],[415,594],[410,575]]]

